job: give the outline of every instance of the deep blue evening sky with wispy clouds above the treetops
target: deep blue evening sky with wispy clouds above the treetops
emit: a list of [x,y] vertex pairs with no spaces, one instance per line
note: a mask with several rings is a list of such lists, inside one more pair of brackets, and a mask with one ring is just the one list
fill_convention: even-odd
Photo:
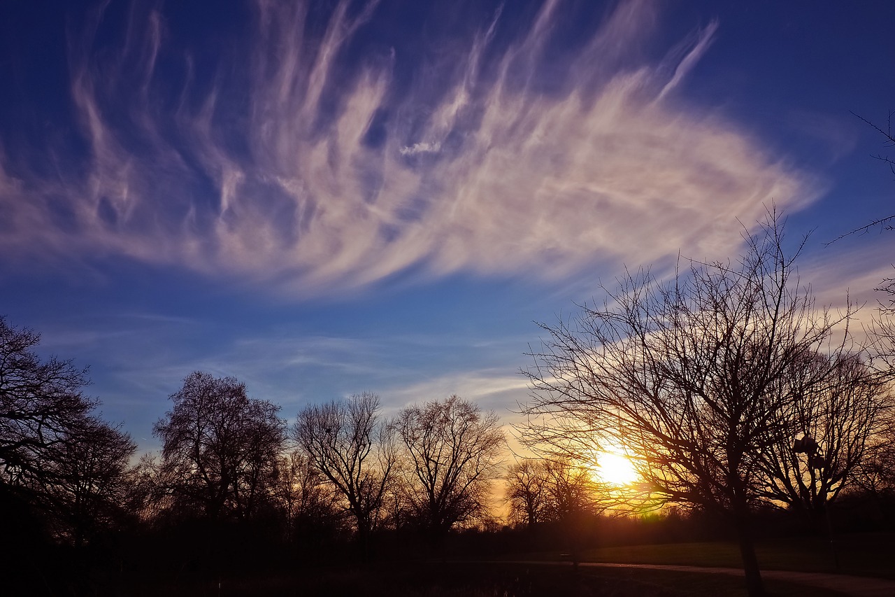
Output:
[[624,268],[769,207],[869,318],[895,232],[895,3],[0,3],[0,315],[152,424],[195,370],[294,418],[450,394],[507,421]]

